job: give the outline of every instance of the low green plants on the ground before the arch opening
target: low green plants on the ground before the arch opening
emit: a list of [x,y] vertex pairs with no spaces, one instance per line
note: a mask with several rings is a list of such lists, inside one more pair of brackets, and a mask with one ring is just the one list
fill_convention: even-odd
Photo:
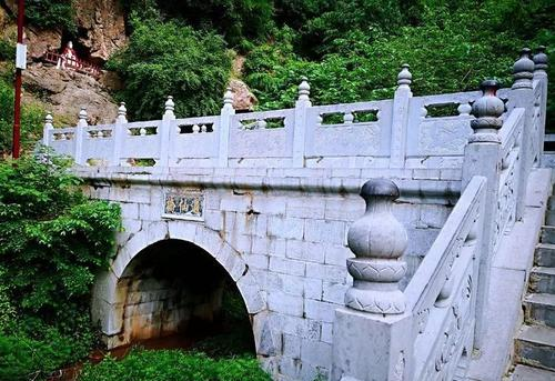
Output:
[[252,358],[210,359],[181,351],[132,351],[87,365],[79,381],[270,381]]

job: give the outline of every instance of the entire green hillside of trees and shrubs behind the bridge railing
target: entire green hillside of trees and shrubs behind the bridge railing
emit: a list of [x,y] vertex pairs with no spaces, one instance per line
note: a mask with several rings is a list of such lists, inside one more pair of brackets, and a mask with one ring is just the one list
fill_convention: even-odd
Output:
[[[416,94],[474,90],[485,78],[509,86],[521,48],[545,44],[552,52],[555,46],[549,0],[133,0],[127,9],[137,24],[127,51],[131,54],[120,56],[113,67],[128,87],[122,97],[137,104],[140,118],[159,117],[164,91],[175,96],[182,114],[216,111],[226,80],[220,76],[229,67],[223,43],[211,50],[195,42],[188,48],[169,36],[194,34],[190,27],[210,39],[222,34],[229,47],[246,56],[243,79],[261,109],[291,107],[302,76],[309,78],[316,104],[391,97],[404,62],[411,64]],[[145,27],[150,20],[155,22]],[[195,39],[206,36],[202,33]],[[212,54],[215,62],[208,62],[205,56]],[[190,57],[184,63],[183,56]],[[199,78],[199,86],[179,78]],[[200,86],[203,80],[216,86]],[[139,91],[142,83],[145,89]],[[554,81],[549,99],[553,120]]]

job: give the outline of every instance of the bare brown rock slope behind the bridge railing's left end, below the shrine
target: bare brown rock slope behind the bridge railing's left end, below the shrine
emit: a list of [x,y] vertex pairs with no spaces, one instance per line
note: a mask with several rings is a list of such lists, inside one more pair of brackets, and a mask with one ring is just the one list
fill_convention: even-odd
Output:
[[49,103],[54,120],[65,123],[77,123],[81,107],[87,107],[91,124],[113,123],[118,113],[118,106],[97,80],[71,70],[31,64],[23,71],[23,86]]

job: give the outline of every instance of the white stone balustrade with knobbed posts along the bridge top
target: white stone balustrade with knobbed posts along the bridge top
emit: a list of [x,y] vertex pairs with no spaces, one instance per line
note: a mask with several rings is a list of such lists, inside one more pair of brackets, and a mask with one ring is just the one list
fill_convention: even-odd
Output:
[[[95,127],[83,108],[74,128],[53,128],[49,114],[43,143],[97,167],[462,168],[480,91],[413,97],[411,82],[403,66],[393,99],[312,106],[303,80],[294,108],[240,114],[228,90],[219,116],[185,119],[175,119],[169,97],[161,120],[129,123],[122,103],[114,124]],[[537,82],[541,104],[545,81]],[[514,89],[498,97],[508,109],[522,103]],[[545,107],[537,112],[545,119]]]

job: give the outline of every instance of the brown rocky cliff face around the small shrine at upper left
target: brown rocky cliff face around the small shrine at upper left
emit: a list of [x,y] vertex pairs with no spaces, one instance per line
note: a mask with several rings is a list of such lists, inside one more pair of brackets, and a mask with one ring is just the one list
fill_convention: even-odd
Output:
[[[1,1],[1,0],[0,0]],[[4,39],[16,39],[16,0],[2,1],[0,28]],[[81,48],[80,57],[103,63],[127,43],[124,13],[119,0],[74,1],[78,36],[73,41]],[[44,66],[40,60],[46,51],[58,51],[68,37],[60,30],[26,28],[28,69],[23,71],[24,100],[40,100],[59,123],[77,123],[81,107],[87,107],[90,123],[112,123],[117,104],[108,89],[118,82],[104,74],[100,80],[70,70]]]

